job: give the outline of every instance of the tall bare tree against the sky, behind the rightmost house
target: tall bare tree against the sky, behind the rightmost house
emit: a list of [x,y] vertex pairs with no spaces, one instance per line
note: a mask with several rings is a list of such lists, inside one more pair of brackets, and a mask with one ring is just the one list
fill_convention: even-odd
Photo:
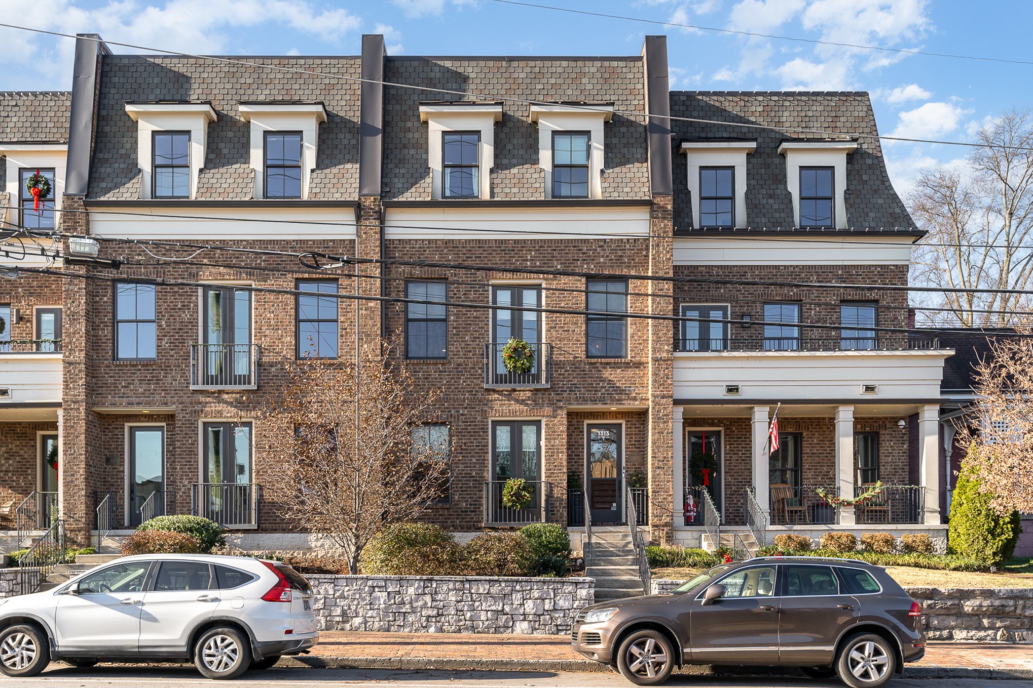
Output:
[[[924,304],[943,306],[935,324],[1002,327],[1029,299],[1005,290],[1028,289],[1033,274],[1033,122],[1011,110],[976,136],[963,171],[922,174],[907,197],[926,237],[915,247],[912,284],[990,289],[989,294],[945,293]],[[996,313],[979,313],[990,310]]]

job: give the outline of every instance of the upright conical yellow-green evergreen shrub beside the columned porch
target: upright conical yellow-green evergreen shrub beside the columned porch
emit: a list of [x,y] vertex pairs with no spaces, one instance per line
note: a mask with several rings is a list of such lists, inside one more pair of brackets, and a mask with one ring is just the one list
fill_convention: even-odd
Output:
[[950,502],[948,553],[964,554],[987,565],[1011,558],[1022,532],[1019,514],[1001,516],[990,505],[993,498],[993,494],[979,491],[979,481],[971,469],[962,469]]

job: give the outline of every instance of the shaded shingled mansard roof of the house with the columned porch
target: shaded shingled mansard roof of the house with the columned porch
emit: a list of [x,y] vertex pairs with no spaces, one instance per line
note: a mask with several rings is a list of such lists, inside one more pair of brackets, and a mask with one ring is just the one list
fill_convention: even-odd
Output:
[[[857,136],[876,134],[875,114],[867,93],[697,92],[670,94],[672,117],[714,120],[721,123],[755,123],[843,132]],[[815,140],[820,134],[785,133],[771,129],[723,126],[672,120],[675,229],[692,230],[692,204],[686,179],[685,139],[743,138],[757,141],[747,156],[746,210],[751,231],[791,229],[792,198],[786,187],[785,158],[778,154],[786,139]],[[913,232],[914,223],[886,173],[878,139],[862,138],[847,156],[847,226],[855,231],[899,229]]]

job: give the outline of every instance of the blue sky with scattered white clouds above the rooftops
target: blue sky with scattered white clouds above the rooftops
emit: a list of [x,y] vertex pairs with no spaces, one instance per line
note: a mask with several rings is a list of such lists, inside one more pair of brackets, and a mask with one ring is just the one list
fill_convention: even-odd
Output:
[[[1033,3],[988,0],[530,0],[678,24],[935,53],[1029,59]],[[34,7],[38,6],[38,9]],[[392,54],[626,55],[668,36],[672,88],[864,90],[884,134],[972,140],[1010,107],[1033,105],[1033,66],[735,36],[574,15],[493,0],[0,0],[4,21],[205,54],[354,55],[383,33]],[[115,52],[135,52],[115,47]],[[72,41],[0,29],[0,90],[68,89]],[[962,165],[966,149],[886,143],[900,191],[924,168]]]

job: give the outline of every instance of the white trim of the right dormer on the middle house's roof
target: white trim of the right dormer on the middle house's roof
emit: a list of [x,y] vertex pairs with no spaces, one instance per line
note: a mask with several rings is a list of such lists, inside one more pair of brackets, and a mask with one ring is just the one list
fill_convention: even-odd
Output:
[[545,198],[553,197],[553,134],[564,131],[589,132],[588,197],[602,198],[603,124],[614,117],[607,104],[531,105],[531,122],[538,125],[538,161],[545,170]]

